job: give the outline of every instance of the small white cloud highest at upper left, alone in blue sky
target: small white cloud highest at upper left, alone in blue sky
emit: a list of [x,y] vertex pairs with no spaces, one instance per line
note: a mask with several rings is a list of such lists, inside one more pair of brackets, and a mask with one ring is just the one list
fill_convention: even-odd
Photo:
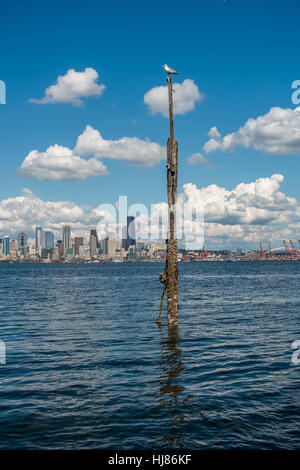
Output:
[[57,82],[45,90],[45,96],[41,99],[30,99],[31,103],[72,103],[75,106],[83,104],[82,98],[100,96],[105,90],[105,85],[98,84],[98,72],[86,67],[83,72],[74,69],[67,71],[65,75],[59,75]]

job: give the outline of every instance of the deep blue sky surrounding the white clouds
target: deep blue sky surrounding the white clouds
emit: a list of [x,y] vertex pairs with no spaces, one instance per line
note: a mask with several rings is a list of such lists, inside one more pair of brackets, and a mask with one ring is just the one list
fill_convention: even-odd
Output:
[[[179,188],[216,184],[230,191],[281,174],[280,191],[300,200],[298,149],[203,151],[214,126],[224,136],[272,107],[295,108],[291,83],[300,78],[299,13],[299,2],[292,0],[2,4],[0,79],[6,82],[7,104],[0,105],[0,200],[20,196],[24,187],[43,201],[91,207],[115,202],[120,194],[132,203],[165,200],[164,161],[144,168],[103,159],[109,174],[83,181],[38,180],[16,172],[34,149],[44,152],[54,144],[73,149],[87,125],[105,139],[149,138],[164,146],[168,120],[144,103],[145,93],[166,84],[164,63],[178,70],[175,81],[194,80],[205,95],[193,111],[175,118]],[[106,89],[83,98],[85,106],[28,102],[41,98],[59,75],[86,67],[98,72]],[[194,153],[205,155],[214,168],[188,165]]]

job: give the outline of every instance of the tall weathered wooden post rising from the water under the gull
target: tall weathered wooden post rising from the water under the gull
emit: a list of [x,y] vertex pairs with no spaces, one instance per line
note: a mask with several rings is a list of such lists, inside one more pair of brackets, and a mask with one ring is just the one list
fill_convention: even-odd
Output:
[[164,284],[161,296],[160,312],[157,323],[161,323],[161,312],[165,291],[168,292],[167,311],[169,326],[178,324],[178,249],[176,234],[176,201],[178,175],[178,144],[174,138],[173,83],[172,76],[167,77],[169,96],[170,137],[167,143],[167,185],[168,185],[168,239],[166,269],[159,277]]

